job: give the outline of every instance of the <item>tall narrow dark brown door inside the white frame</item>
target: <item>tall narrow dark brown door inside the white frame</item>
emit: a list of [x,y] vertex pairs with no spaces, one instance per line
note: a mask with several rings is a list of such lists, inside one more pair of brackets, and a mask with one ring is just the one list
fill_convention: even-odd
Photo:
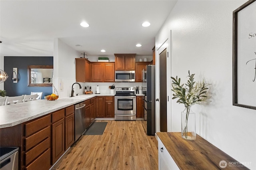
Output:
[[159,54],[160,73],[160,132],[167,132],[167,81],[166,81],[166,49]]

